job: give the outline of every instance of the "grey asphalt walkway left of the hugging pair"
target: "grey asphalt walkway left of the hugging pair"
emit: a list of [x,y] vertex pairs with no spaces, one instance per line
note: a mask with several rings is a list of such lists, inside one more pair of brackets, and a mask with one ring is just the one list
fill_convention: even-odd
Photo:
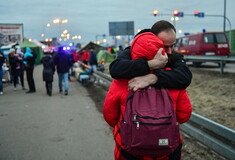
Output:
[[[46,94],[42,66],[35,67],[37,92],[4,84],[0,96],[0,160],[111,160],[111,129],[87,90],[70,82],[69,95]],[[26,83],[26,80],[25,80]],[[27,84],[27,83],[26,83]],[[27,85],[26,85],[27,86]],[[96,93],[99,94],[99,93]]]

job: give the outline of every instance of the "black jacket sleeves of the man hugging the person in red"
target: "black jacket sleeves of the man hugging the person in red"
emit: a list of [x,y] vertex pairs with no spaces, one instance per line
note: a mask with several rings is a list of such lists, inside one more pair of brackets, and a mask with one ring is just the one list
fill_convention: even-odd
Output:
[[[189,86],[192,73],[181,54],[175,52],[166,67],[172,70],[154,72],[158,77],[156,86],[169,89],[185,89]],[[131,60],[130,47],[128,47],[110,64],[109,71],[115,79],[131,79],[148,74],[150,69],[145,59]]]

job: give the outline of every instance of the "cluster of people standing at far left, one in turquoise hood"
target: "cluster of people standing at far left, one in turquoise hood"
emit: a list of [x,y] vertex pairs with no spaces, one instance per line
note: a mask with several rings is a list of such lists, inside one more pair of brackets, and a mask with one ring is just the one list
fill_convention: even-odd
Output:
[[22,90],[26,90],[24,83],[24,73],[26,73],[29,90],[25,93],[36,92],[33,77],[35,59],[37,58],[35,51],[26,47],[25,52],[23,52],[19,46],[16,46],[15,48],[10,49],[8,57],[4,56],[2,50],[0,50],[0,53],[2,55],[0,61],[0,69],[2,73],[0,77],[0,94],[3,95],[2,78],[4,76],[3,69],[5,68],[3,68],[3,64],[6,64],[9,68],[9,82],[13,84],[13,90],[17,90],[19,88],[19,84],[21,85]]

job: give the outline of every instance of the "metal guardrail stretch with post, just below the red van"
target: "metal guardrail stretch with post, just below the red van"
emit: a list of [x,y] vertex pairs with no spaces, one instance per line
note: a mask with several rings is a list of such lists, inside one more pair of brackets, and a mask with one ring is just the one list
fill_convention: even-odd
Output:
[[234,56],[195,56],[195,55],[184,55],[186,61],[192,62],[217,62],[220,63],[220,73],[224,73],[224,64],[226,62],[235,63]]

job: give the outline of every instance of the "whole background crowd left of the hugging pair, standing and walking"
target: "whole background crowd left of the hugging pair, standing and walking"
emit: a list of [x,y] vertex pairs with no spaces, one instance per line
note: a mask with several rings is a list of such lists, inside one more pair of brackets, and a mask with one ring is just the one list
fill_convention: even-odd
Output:
[[[24,49],[24,51],[23,51]],[[4,56],[0,50],[0,95],[3,95],[3,83],[5,64],[9,69],[9,82],[13,86],[13,90],[19,89],[21,85],[22,90],[27,90],[25,93],[35,93],[36,86],[34,81],[34,66],[37,59],[37,54],[33,48],[20,48],[14,46],[10,49],[8,56]],[[46,93],[52,95],[52,87],[54,80],[54,73],[58,74],[59,92],[68,95],[69,82],[72,81],[70,76],[73,73],[73,64],[81,61],[84,64],[90,65],[93,70],[97,68],[97,52],[94,47],[89,50],[83,50],[78,53],[75,49],[67,50],[66,47],[61,46],[57,51],[44,52],[40,63],[43,65],[42,80],[45,82]],[[25,87],[24,77],[26,73],[26,80],[28,89]]]

